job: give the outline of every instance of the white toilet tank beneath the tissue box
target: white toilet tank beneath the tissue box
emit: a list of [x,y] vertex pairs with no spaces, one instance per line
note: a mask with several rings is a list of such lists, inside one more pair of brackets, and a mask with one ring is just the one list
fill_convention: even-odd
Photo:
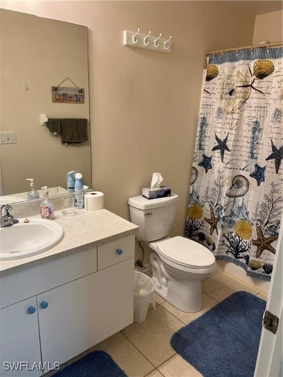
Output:
[[142,195],[129,198],[131,222],[140,227],[137,238],[156,241],[168,236],[177,209],[178,195],[146,199]]

